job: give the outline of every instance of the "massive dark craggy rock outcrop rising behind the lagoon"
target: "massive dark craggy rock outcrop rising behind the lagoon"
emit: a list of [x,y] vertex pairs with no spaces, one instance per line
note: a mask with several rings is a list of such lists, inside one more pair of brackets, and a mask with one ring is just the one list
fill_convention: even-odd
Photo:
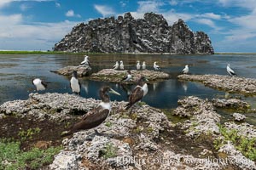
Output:
[[90,20],[73,27],[54,51],[95,53],[213,54],[206,33],[193,32],[183,20],[168,26],[161,14],[146,13],[135,20],[131,13]]

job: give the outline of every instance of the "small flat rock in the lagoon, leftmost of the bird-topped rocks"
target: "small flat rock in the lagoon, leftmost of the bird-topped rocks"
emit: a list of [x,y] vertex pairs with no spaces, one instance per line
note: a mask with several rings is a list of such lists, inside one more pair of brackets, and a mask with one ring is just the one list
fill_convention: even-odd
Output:
[[86,77],[86,76],[89,76],[91,68],[90,68],[89,65],[85,65],[85,66],[66,66],[66,67],[63,67],[63,68],[61,68],[57,71],[51,71],[51,72],[55,72],[55,73],[63,75],[63,76],[71,76],[73,71],[77,71],[79,77]]

